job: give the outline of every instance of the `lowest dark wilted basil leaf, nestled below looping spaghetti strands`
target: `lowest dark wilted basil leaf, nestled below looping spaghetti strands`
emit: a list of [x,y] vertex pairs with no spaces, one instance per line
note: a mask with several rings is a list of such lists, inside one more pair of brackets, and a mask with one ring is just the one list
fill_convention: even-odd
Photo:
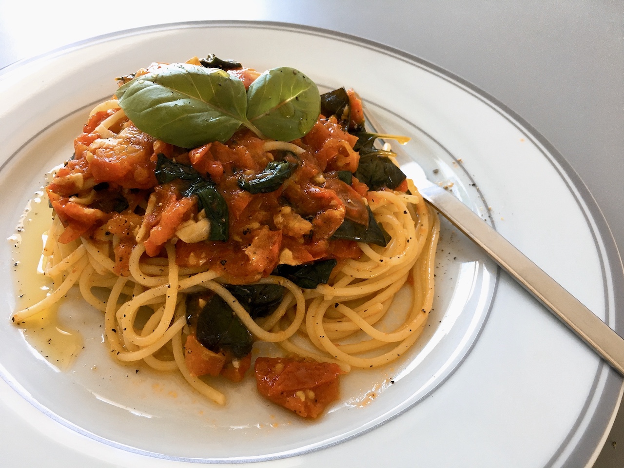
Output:
[[227,351],[234,358],[251,353],[251,333],[221,296],[213,295],[197,318],[197,341],[215,353]]

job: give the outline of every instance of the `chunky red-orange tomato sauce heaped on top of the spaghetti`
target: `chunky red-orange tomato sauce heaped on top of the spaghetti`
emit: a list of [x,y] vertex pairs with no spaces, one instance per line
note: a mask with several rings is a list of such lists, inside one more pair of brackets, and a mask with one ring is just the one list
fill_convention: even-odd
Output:
[[[228,208],[228,240],[178,240],[180,266],[209,268],[232,283],[248,283],[270,275],[280,263],[298,265],[360,255],[354,241],[331,239],[345,219],[368,223],[366,186],[356,178],[348,185],[337,177],[338,171],[354,172],[359,155],[353,150],[356,137],[334,117],[321,116],[308,135],[295,140],[301,148],[295,155],[264,150],[265,140],[246,129],[228,142],[187,150],[156,140],[124,119],[117,124],[119,131],[114,137],[102,138],[98,125],[114,112],[105,110],[89,117],[84,132],[74,141],[74,158],[47,187],[52,206],[66,227],[62,242],[80,236],[105,241],[98,235],[104,227],[118,236],[115,268],[122,275],[129,274],[127,258],[138,241],[144,242],[148,256],[163,255],[163,245],[176,238],[180,225],[198,216],[195,197],[180,195],[175,183],[158,183],[157,155],[163,154],[192,165],[212,180]],[[296,169],[280,188],[253,194],[240,188],[241,177],[253,178],[267,163],[285,158]],[[74,201],[89,196],[90,203]],[[155,206],[148,210],[150,197],[155,197]],[[121,201],[124,209],[110,200]],[[139,226],[137,214],[143,217]],[[120,219],[132,224],[134,240],[130,233],[120,235],[114,226],[108,227],[113,219],[113,224]]]

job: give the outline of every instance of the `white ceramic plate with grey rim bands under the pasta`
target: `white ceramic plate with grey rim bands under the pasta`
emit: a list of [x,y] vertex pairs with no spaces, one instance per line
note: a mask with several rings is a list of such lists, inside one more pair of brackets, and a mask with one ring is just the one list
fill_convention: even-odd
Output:
[[[582,182],[535,130],[431,64],[299,26],[150,27],[6,69],[2,235],[15,233],[44,173],[71,155],[92,105],[114,92],[114,77],[152,61],[211,52],[259,70],[296,67],[324,88],[356,89],[386,130],[412,137],[405,148],[432,178],[622,332],[615,310],[624,280],[608,228]],[[8,414],[27,437],[52,440],[67,457],[124,466],[275,459],[316,466],[342,457],[353,466],[378,466],[388,456],[417,457],[423,466],[591,462],[622,380],[469,241],[447,223],[443,228],[437,299],[424,339],[391,368],[347,376],[341,400],[316,422],[268,406],[250,380],[225,386],[229,402],[217,408],[177,376],[112,363],[100,314],[75,297],[66,301],[62,321],[80,330],[85,348],[59,371],[9,323],[15,275],[7,242],[0,250],[8,305],[0,321],[0,395],[5,406],[21,408]]]

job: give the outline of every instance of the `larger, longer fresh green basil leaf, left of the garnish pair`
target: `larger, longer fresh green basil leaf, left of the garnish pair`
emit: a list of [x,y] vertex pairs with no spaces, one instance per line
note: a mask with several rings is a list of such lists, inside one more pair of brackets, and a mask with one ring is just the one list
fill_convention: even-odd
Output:
[[245,85],[220,69],[163,66],[130,80],[116,94],[137,128],[183,148],[225,142],[246,121]]

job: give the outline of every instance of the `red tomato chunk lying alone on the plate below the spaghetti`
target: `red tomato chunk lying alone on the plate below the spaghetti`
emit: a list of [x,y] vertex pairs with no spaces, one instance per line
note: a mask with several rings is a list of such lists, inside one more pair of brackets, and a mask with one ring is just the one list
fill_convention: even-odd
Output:
[[258,358],[254,371],[263,397],[312,419],[338,399],[344,373],[338,364],[293,358]]

